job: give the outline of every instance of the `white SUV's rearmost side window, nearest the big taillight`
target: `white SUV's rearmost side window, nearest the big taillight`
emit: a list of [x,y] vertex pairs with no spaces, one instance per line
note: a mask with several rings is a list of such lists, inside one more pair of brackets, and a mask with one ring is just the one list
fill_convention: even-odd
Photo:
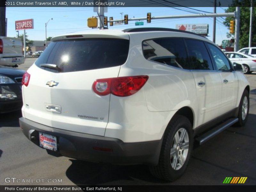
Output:
[[190,69],[182,38],[158,38],[143,41],[142,50],[147,60],[182,69]]

